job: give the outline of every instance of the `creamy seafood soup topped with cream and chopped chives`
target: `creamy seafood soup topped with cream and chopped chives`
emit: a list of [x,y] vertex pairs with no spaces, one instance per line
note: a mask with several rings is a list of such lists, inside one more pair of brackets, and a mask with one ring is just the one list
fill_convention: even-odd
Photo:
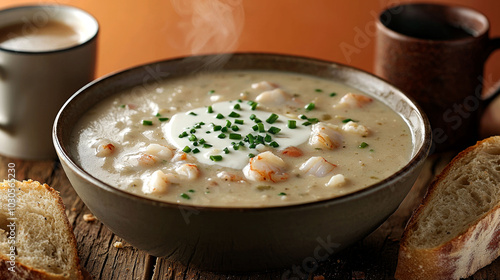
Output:
[[405,121],[359,90],[281,72],[165,80],[102,100],[72,153],[93,176],[162,201],[229,207],[342,196],[406,163]]

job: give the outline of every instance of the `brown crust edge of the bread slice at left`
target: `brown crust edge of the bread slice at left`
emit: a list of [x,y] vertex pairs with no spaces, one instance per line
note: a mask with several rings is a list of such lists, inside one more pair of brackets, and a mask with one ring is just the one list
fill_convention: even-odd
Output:
[[[0,190],[5,190],[9,188],[10,181],[0,182]],[[16,188],[32,188],[39,189],[43,188],[56,200],[56,207],[58,211],[64,215],[63,221],[65,224],[65,228],[67,231],[67,236],[69,240],[67,242],[70,245],[70,251],[75,252],[73,254],[73,262],[75,264],[75,269],[71,271],[68,275],[61,274],[53,274],[44,270],[36,269],[31,266],[28,266],[23,263],[19,263],[16,261],[16,265],[14,266],[14,272],[8,270],[11,265],[8,263],[9,257],[3,254],[0,254],[0,279],[23,279],[23,280],[39,280],[39,279],[47,279],[47,280],[68,280],[68,279],[83,279],[83,275],[80,268],[80,259],[78,257],[77,243],[76,238],[73,233],[73,228],[68,221],[66,216],[66,207],[62,201],[59,192],[48,186],[47,184],[40,184],[37,181],[27,180],[27,181],[16,181]],[[11,268],[12,269],[12,268]]]

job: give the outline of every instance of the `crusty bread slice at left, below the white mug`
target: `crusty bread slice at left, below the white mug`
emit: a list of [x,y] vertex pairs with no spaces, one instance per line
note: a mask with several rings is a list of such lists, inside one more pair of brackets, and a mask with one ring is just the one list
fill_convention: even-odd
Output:
[[[0,279],[83,279],[76,239],[59,194],[45,184],[16,181],[11,213],[10,182],[0,182]],[[13,247],[11,235],[16,238]],[[15,264],[10,262],[14,259]]]

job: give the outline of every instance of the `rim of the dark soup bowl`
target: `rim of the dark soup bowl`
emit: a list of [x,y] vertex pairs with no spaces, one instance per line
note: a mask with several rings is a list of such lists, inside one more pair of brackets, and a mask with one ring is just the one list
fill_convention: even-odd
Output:
[[[141,196],[138,194],[134,194],[131,192],[128,192],[126,190],[120,189],[118,187],[114,187],[110,184],[107,184],[103,182],[102,180],[92,176],[90,173],[88,173],[85,169],[83,169],[80,165],[78,165],[70,156],[70,153],[67,151],[65,148],[64,142],[63,142],[63,136],[62,136],[62,128],[61,128],[61,120],[65,117],[65,114],[67,113],[66,110],[68,106],[72,103],[75,102],[76,99],[80,97],[81,94],[86,92],[89,88],[98,85],[104,80],[112,79],[113,77],[119,77],[121,75],[125,75],[125,73],[129,73],[132,71],[139,71],[139,69],[150,66],[150,65],[155,65],[158,63],[167,63],[170,61],[179,61],[182,59],[186,58],[198,58],[201,59],[203,57],[213,57],[215,55],[231,55],[231,56],[266,56],[266,57],[276,57],[280,59],[300,59],[300,60],[305,60],[308,63],[326,63],[330,66],[335,66],[338,68],[344,68],[348,69],[351,71],[355,72],[361,72],[364,75],[368,75],[371,78],[374,78],[375,80],[379,80],[383,82],[384,84],[390,86],[392,89],[394,89],[396,92],[398,92],[399,95],[401,95],[402,99],[406,99],[406,102],[408,102],[414,109],[419,113],[419,119],[422,120],[422,128],[423,128],[423,141],[421,147],[415,152],[415,154],[410,158],[410,160],[403,166],[401,167],[398,171],[394,172],[392,175],[389,177],[386,177],[385,179],[378,181],[375,184],[369,185],[365,188],[359,189],[357,191],[354,191],[352,193],[348,193],[342,196],[337,196],[337,197],[332,197],[332,198],[327,198],[327,199],[321,199],[321,200],[314,200],[314,201],[307,201],[307,202],[301,202],[301,203],[294,203],[294,204],[285,204],[285,205],[272,205],[272,206],[258,206],[258,207],[251,207],[251,206],[239,206],[239,207],[233,207],[233,206],[207,206],[207,205],[193,205],[193,204],[183,204],[183,203],[174,203],[174,202],[167,202],[167,201],[162,201],[159,199],[154,199],[154,198],[148,198],[145,196]],[[231,71],[231,70],[230,70]],[[291,71],[292,72],[292,71]],[[292,72],[294,73],[294,72]],[[299,73],[301,74],[301,73]],[[304,74],[304,73],[302,73]],[[116,92],[115,92],[116,93]],[[412,132],[412,135],[413,132]],[[165,208],[179,208],[179,207],[186,207],[186,208],[194,208],[197,211],[234,211],[234,212],[258,212],[258,211],[269,211],[269,210],[276,210],[276,209],[294,209],[294,208],[302,208],[302,207],[323,207],[325,204],[330,204],[330,203],[340,203],[345,200],[352,200],[356,199],[357,197],[360,196],[366,196],[369,195],[372,192],[376,192],[377,190],[385,187],[389,187],[391,183],[397,181],[400,177],[404,177],[406,174],[411,173],[411,171],[423,163],[423,161],[427,158],[431,144],[432,144],[432,133],[431,133],[431,126],[430,122],[422,110],[422,108],[417,104],[417,102],[412,99],[410,96],[406,95],[403,91],[399,90],[386,80],[369,73],[367,71],[361,70],[359,68],[345,65],[342,63],[338,62],[333,62],[333,61],[328,61],[328,60],[323,60],[323,59],[318,59],[318,58],[313,58],[313,57],[307,57],[307,56],[297,56],[297,55],[289,55],[289,54],[279,54],[279,53],[269,53],[269,52],[235,52],[235,53],[214,53],[214,54],[204,54],[204,55],[193,55],[193,56],[180,56],[180,57],[175,57],[175,58],[168,58],[168,59],[163,59],[163,60],[158,60],[158,61],[153,61],[153,62],[147,62],[144,64],[136,65],[130,68],[126,68],[124,70],[118,70],[112,73],[109,73],[107,75],[104,75],[102,77],[99,77],[95,79],[94,81],[86,84],[82,88],[80,88],[76,93],[74,93],[61,107],[59,110],[55,120],[54,120],[54,126],[52,129],[52,138],[53,138],[53,144],[56,150],[56,153],[59,157],[60,161],[64,161],[66,165],[79,177],[83,178],[86,181],[89,181],[90,183],[94,184],[100,189],[103,189],[105,191],[113,192],[114,194],[118,194],[120,196],[127,197],[129,199],[133,200],[138,200],[142,203],[146,204],[152,204],[155,206],[160,206],[160,207],[165,207]]]

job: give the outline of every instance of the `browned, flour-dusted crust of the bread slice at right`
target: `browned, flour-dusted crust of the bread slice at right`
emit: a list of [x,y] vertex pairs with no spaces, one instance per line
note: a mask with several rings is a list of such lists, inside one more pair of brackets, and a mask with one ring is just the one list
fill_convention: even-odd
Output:
[[[500,146],[500,136],[479,141],[460,152],[433,180],[425,198],[414,211],[400,241],[396,279],[467,278],[500,255],[500,204],[469,225],[465,232],[434,248],[414,248],[409,236],[417,228],[420,215],[434,197],[441,182],[462,159],[476,153],[483,145]],[[486,248],[486,249],[484,249]]]

